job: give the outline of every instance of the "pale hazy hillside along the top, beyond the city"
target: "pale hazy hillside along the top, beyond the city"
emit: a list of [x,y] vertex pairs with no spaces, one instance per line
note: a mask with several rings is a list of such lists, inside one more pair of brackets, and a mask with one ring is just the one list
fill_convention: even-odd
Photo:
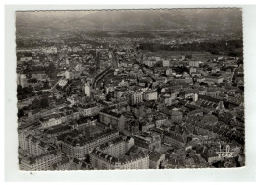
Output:
[[17,12],[19,28],[83,31],[242,31],[239,9]]

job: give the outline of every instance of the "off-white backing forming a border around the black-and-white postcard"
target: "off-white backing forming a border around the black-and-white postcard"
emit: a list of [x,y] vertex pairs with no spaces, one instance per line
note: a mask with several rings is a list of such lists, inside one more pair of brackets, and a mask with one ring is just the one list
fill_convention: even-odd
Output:
[[[17,159],[16,119],[16,53],[15,11],[17,10],[81,10],[141,8],[243,8],[245,106],[246,106],[246,167],[236,169],[179,169],[128,171],[67,171],[19,172]],[[254,43],[256,6],[251,5],[8,5],[5,9],[5,179],[7,181],[255,181],[256,120],[254,74],[256,48]]]

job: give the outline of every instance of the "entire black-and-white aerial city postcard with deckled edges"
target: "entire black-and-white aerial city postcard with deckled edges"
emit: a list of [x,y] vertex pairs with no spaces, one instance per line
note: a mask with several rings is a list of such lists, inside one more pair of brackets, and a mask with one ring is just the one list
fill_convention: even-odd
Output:
[[24,171],[245,165],[242,10],[16,12]]

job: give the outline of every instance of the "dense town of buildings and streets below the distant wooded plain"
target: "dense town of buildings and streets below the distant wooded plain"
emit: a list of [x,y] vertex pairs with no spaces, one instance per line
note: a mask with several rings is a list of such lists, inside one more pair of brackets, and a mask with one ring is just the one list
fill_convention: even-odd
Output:
[[242,58],[53,41],[17,48],[20,169],[244,166]]

